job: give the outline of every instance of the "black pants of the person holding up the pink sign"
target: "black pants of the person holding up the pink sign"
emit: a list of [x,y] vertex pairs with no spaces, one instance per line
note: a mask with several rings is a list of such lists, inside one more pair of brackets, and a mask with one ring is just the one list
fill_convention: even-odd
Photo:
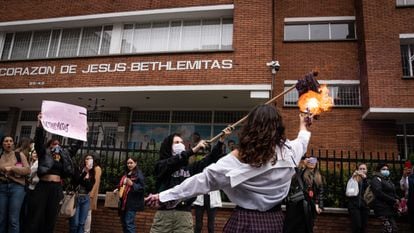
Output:
[[60,182],[40,181],[28,196],[25,233],[53,233],[63,198]]

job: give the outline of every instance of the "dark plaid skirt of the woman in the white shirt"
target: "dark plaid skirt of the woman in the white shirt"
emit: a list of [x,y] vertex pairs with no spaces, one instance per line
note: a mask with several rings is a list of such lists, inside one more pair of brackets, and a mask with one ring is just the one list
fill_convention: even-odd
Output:
[[224,233],[282,233],[284,215],[279,208],[266,212],[236,207],[224,226]]

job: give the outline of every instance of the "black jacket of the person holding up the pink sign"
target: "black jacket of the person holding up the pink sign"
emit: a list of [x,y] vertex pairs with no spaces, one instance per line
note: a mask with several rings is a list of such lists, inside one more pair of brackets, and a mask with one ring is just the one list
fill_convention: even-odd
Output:
[[[39,177],[43,175],[50,174],[50,169],[53,167],[55,161],[52,158],[52,155],[46,145],[45,141],[45,130],[42,127],[36,128],[36,134],[34,138],[35,142],[35,150],[39,157],[38,162],[38,169],[37,175]],[[72,162],[72,157],[76,155],[77,151],[79,150],[80,146],[82,145],[82,141],[76,140],[74,144],[72,144],[69,148],[64,148],[61,153],[61,163],[62,171],[61,176],[62,178],[71,177],[74,173],[74,165]]]

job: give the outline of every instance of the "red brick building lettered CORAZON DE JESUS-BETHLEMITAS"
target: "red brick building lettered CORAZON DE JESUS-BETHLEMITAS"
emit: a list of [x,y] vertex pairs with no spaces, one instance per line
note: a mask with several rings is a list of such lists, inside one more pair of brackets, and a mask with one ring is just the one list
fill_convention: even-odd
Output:
[[[90,106],[90,144],[210,138],[317,68],[334,109],[311,148],[414,153],[414,2],[2,1],[0,134],[42,100]],[[267,63],[278,61],[272,73]],[[297,93],[278,99],[288,137]],[[58,110],[57,110],[58,111]]]

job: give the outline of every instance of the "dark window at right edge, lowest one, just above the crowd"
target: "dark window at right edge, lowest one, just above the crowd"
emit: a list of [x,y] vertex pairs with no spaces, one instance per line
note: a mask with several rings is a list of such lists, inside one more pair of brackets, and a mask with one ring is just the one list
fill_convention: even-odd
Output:
[[414,124],[397,125],[397,145],[400,159],[414,159]]

